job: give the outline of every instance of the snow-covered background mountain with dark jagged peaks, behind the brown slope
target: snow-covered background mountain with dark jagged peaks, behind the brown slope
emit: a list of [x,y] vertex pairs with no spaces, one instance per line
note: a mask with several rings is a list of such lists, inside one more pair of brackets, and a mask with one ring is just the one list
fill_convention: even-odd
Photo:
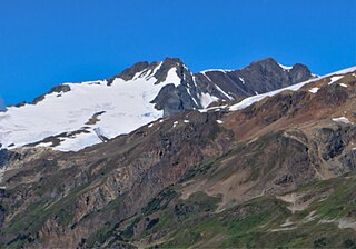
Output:
[[179,59],[139,62],[98,81],[63,83],[0,112],[3,148],[52,147],[78,151],[184,110],[206,109],[287,87],[312,77],[307,67],[274,59],[241,70],[192,73]]

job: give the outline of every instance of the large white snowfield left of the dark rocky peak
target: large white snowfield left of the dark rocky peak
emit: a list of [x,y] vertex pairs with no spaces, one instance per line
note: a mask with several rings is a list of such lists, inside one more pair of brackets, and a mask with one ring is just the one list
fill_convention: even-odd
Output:
[[[159,67],[160,64],[154,72]],[[7,112],[0,112],[0,143],[3,148],[14,143],[11,148],[17,148],[62,132],[89,131],[71,138],[60,138],[62,141],[56,147],[58,150],[77,151],[101,142],[95,132],[96,128],[113,138],[152,122],[162,117],[162,111],[156,110],[150,101],[164,86],[180,84],[180,78],[176,68],[170,69],[166,81],[158,84],[155,84],[157,79],[148,77],[149,74],[152,73],[138,72],[129,81],[117,78],[110,87],[107,81],[66,83],[71,90],[61,92],[60,97],[53,92],[37,104],[9,107]],[[206,96],[206,103],[212,100],[215,99]],[[105,113],[98,117],[99,121],[86,124],[95,113],[101,111]]]

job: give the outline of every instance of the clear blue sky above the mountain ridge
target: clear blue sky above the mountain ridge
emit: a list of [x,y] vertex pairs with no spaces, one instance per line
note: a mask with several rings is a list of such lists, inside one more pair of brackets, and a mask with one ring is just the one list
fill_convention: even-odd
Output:
[[265,57],[324,74],[356,64],[356,0],[0,0],[0,96],[179,57],[192,70]]

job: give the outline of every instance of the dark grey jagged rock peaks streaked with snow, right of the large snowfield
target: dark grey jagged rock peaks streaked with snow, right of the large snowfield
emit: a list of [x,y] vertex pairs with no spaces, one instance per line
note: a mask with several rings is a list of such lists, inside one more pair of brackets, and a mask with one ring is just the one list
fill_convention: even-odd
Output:
[[[136,63],[120,74],[109,78],[108,84],[111,84],[115,78],[131,80],[138,72],[148,72],[157,64],[159,63]],[[253,62],[241,70],[209,70],[198,73],[191,73],[178,58],[166,58],[160,68],[151,74],[157,79],[156,83],[165,81],[171,69],[175,69],[179,82],[164,87],[151,101],[156,103],[156,109],[164,110],[165,117],[182,110],[204,108],[202,94],[214,97],[217,102],[234,102],[256,93],[298,83],[312,77],[306,66],[297,63],[290,70],[286,70],[271,58]]]

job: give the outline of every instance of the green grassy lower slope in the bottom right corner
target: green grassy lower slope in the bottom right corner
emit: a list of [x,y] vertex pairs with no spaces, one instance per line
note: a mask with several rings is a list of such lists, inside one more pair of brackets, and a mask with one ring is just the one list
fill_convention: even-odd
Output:
[[[355,230],[338,228],[340,220],[356,221],[355,180],[356,175],[349,175],[300,188],[296,193],[314,199],[295,212],[288,209],[290,203],[273,196],[216,212],[219,197],[197,192],[181,200],[170,189],[168,198],[157,198],[135,223],[128,222],[131,232],[118,233],[122,241],[159,248],[356,248]],[[135,237],[140,220],[147,222]]]

